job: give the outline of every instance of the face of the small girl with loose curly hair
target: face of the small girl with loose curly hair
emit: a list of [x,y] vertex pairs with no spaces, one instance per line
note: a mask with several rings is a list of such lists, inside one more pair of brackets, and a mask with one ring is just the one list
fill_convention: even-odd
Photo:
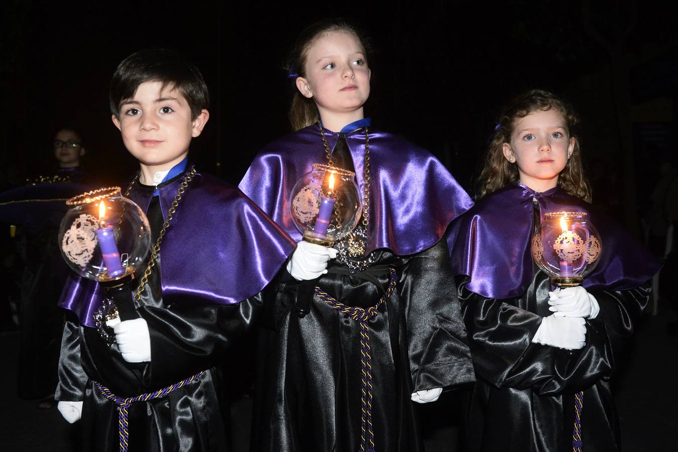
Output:
[[570,137],[559,110],[537,110],[513,127],[511,142],[504,143],[504,157],[518,165],[520,182],[536,192],[556,186],[558,175],[570,159],[575,139]]

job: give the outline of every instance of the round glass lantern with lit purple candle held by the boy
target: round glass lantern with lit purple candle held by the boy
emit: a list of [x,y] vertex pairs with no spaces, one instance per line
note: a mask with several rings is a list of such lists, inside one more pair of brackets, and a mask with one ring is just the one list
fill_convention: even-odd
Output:
[[133,275],[151,247],[151,228],[120,187],[101,188],[66,201],[59,230],[62,256],[85,278],[109,283]]

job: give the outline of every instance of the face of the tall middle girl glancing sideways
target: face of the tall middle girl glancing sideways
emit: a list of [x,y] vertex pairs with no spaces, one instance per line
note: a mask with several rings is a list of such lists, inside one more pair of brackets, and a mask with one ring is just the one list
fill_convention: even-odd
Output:
[[370,68],[363,46],[353,33],[325,33],[306,55],[306,77],[296,85],[303,96],[313,98],[321,117],[355,112],[370,96]]

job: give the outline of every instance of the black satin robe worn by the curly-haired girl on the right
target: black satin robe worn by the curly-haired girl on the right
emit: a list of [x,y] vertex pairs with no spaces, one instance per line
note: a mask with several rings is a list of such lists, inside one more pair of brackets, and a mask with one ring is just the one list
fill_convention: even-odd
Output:
[[494,300],[460,281],[462,314],[477,382],[471,396],[467,451],[572,451],[574,394],[584,391],[583,450],[619,450],[610,379],[647,304],[649,285],[591,290],[600,313],[586,321],[586,345],[562,350],[533,344],[549,311],[549,278],[535,271],[521,297]]

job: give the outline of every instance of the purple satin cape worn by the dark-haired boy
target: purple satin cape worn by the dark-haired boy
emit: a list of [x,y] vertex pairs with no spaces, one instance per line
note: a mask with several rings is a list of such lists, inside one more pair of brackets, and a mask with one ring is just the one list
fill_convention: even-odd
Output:
[[[158,186],[167,215],[183,176]],[[129,199],[144,211],[153,190],[135,184]],[[196,173],[179,202],[161,243],[163,302],[235,304],[263,289],[283,266],[294,242],[237,188]],[[140,270],[143,271],[143,270]],[[101,306],[98,283],[73,276],[59,306],[94,327]]]

